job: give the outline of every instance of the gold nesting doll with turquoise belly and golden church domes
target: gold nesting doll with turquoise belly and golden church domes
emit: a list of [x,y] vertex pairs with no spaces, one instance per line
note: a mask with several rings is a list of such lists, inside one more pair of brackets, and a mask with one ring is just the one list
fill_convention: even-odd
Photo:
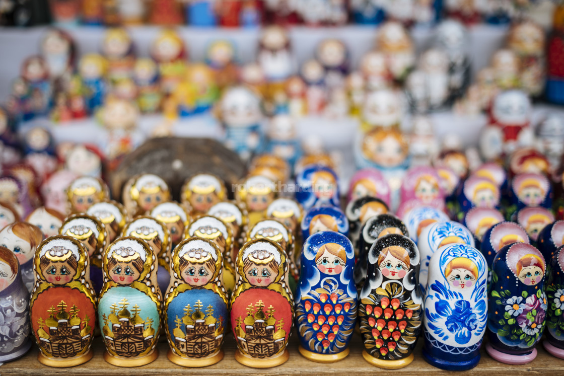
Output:
[[109,364],[136,367],[157,359],[162,296],[156,272],[157,255],[142,239],[122,237],[108,246],[98,322]]

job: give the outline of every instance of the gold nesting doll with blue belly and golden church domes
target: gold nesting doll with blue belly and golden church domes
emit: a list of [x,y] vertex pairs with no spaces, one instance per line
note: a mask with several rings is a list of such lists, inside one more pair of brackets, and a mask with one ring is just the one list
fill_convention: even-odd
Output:
[[174,249],[170,267],[164,299],[168,358],[187,367],[215,364],[223,359],[229,318],[223,255],[213,241],[192,237]]

